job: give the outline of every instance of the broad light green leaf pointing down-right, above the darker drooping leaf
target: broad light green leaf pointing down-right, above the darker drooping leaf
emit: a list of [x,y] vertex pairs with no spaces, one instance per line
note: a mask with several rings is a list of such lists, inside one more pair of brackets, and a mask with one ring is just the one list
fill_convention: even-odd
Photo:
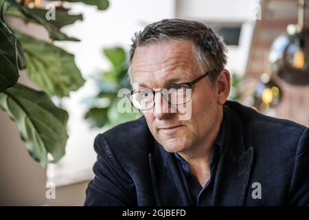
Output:
[[14,32],[23,47],[27,74],[43,91],[50,96],[69,96],[70,91],[84,85],[73,54],[27,34]]

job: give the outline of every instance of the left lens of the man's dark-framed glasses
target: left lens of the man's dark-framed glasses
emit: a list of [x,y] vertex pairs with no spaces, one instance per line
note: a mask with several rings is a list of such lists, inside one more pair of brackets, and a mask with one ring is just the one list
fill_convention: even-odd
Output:
[[139,110],[151,109],[154,105],[153,92],[150,89],[137,91],[130,96],[133,106]]

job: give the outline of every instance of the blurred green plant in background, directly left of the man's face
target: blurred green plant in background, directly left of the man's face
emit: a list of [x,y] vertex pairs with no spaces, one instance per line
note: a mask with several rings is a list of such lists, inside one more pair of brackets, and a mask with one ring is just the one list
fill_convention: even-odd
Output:
[[[135,120],[141,114],[136,113],[137,110],[133,108],[129,100],[117,97],[119,89],[130,89],[130,82],[126,77],[128,72],[126,52],[122,47],[106,48],[103,52],[111,61],[112,66],[108,71],[102,72],[102,76],[95,79],[99,93],[93,98],[85,100],[85,103],[91,107],[85,118],[91,119],[93,126],[99,127],[115,126],[129,120]],[[102,99],[105,98],[110,101],[108,104],[102,102]],[[124,113],[118,111],[118,104],[125,108]]]

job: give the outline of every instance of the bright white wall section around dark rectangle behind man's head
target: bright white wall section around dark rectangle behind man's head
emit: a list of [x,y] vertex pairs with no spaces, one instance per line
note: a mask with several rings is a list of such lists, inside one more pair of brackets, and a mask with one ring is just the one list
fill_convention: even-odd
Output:
[[243,76],[258,3],[260,3],[259,0],[178,0],[176,17],[203,23],[241,24],[239,45],[227,47],[227,69],[231,73]]

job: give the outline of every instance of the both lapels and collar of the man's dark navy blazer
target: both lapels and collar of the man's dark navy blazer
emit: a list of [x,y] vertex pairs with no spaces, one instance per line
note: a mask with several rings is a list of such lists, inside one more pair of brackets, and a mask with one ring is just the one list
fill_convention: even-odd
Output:
[[[253,161],[253,147],[244,145],[244,133],[237,113],[225,106],[224,117],[225,143],[214,180],[214,205],[242,206]],[[175,158],[156,140],[153,141],[154,147],[148,159],[157,206],[188,206],[185,186],[176,168]],[[175,192],[177,195],[174,195]],[[174,203],[171,203],[170,198],[174,198]]]

